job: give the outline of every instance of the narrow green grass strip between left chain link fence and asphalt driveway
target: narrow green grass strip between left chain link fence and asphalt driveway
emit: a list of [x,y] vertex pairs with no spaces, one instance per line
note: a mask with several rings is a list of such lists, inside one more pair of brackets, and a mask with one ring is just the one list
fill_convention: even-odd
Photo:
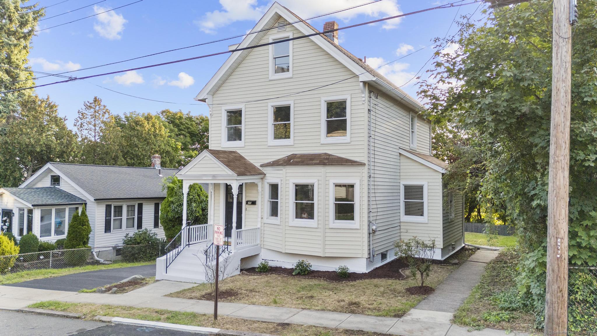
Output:
[[0,274],[0,285],[7,285],[8,283],[23,282],[27,280],[44,279],[46,277],[65,276],[67,274],[75,274],[87,271],[107,270],[109,268],[122,268],[150,264],[155,264],[155,261],[114,262],[113,264],[109,265],[87,265],[81,267],[21,271],[16,273]]

